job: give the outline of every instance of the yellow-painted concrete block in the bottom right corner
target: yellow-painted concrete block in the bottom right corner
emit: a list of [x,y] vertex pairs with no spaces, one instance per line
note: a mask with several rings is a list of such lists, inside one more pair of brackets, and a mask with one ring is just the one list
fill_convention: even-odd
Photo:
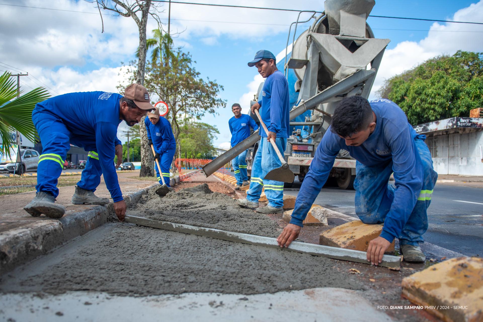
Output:
[[483,258],[457,257],[404,278],[402,296],[446,322],[483,321]]

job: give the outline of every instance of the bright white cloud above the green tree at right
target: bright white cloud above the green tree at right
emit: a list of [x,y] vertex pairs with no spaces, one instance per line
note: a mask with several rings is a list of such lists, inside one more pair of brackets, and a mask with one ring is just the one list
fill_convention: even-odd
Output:
[[[458,10],[452,21],[483,21],[483,1]],[[464,32],[467,30],[479,32]],[[370,98],[376,98],[375,92],[389,79],[405,70],[410,70],[427,59],[439,55],[453,55],[458,50],[481,52],[483,26],[459,23],[435,22],[425,39],[420,42],[400,42],[393,49],[384,52],[381,66],[376,76]]]

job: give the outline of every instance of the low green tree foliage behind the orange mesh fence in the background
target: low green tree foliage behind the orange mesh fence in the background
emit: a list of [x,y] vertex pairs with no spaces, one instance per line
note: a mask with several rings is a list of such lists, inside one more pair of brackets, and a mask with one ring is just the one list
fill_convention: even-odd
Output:
[[216,126],[201,122],[187,122],[181,127],[181,156],[194,159],[207,159],[215,155],[213,146],[215,134],[220,134]]

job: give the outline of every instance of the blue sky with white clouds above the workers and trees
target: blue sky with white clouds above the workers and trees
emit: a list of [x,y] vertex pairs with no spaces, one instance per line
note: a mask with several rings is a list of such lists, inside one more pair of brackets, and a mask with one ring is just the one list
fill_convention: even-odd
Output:
[[[132,0],[125,0],[132,2]],[[187,2],[239,4],[235,0],[190,0]],[[167,3],[159,3],[159,16],[168,23]],[[245,6],[323,11],[321,0],[245,0]],[[32,8],[36,7],[36,8]],[[56,9],[56,10],[52,10]],[[82,13],[79,13],[82,12]],[[85,0],[0,0],[0,72],[28,71],[21,77],[25,92],[45,86],[51,95],[81,91],[117,92],[128,85],[123,64],[134,59],[139,45],[138,28],[132,18],[103,11],[104,32],[97,6]],[[284,51],[290,23],[298,13],[260,9],[171,4],[171,33],[175,46],[182,46],[196,61],[194,67],[206,80],[224,86],[219,97],[227,107],[202,121],[217,126],[214,145],[228,148],[231,105],[249,110],[250,99],[263,81],[249,68],[259,49],[277,55]],[[376,0],[371,15],[450,21],[483,22],[483,0]],[[302,13],[300,20],[310,14]],[[388,79],[442,54],[457,50],[483,52],[483,25],[369,17],[376,38],[391,42],[369,98]],[[296,37],[309,27],[300,24]],[[148,38],[156,21],[148,19]],[[165,27],[166,28],[166,27]],[[290,36],[290,41],[293,34]],[[149,56],[149,53],[148,53]],[[282,55],[283,56],[283,55]],[[118,137],[124,142],[121,123]]]

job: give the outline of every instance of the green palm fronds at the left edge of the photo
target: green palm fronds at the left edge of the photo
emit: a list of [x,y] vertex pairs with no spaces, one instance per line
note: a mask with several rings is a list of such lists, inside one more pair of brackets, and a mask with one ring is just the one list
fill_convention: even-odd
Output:
[[4,72],[0,76],[0,154],[8,157],[11,146],[15,144],[11,137],[12,132],[19,131],[27,140],[36,140],[37,131],[32,122],[32,111],[35,104],[50,97],[45,88],[38,87],[15,99],[18,92],[11,75]]

